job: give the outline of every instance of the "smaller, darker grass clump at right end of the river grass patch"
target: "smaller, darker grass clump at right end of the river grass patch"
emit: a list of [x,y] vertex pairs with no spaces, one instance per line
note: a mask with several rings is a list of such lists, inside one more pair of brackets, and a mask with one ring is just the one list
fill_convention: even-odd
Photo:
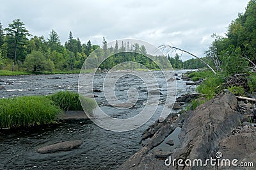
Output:
[[82,102],[86,107],[84,108],[85,111],[92,114],[93,109],[97,106],[95,100],[92,98],[84,96],[79,98],[79,94],[74,91],[58,91],[48,97],[55,105],[58,105],[64,111],[83,111]]

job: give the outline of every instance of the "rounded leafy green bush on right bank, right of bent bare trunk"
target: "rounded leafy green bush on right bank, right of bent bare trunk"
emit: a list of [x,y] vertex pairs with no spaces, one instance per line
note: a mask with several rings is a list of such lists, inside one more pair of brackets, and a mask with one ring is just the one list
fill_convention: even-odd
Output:
[[247,66],[248,61],[241,56],[241,49],[235,49],[234,45],[230,45],[221,51],[221,68],[227,75],[243,73]]

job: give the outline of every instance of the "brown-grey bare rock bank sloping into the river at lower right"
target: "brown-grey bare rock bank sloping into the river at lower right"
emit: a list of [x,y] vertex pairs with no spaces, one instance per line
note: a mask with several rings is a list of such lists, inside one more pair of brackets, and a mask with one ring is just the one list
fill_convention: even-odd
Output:
[[[143,148],[119,169],[230,169],[211,164],[204,167],[178,166],[177,162],[174,166],[164,164],[170,158],[205,162],[208,158],[216,158],[216,153],[221,153],[223,159],[237,159],[237,165],[240,162],[256,164],[256,127],[247,122],[255,118],[255,111],[255,105],[237,101],[230,91],[225,90],[194,111],[180,116],[171,114],[162,123],[151,125],[143,134]],[[252,118],[248,119],[248,116]],[[166,144],[166,139],[180,127],[180,143]]]

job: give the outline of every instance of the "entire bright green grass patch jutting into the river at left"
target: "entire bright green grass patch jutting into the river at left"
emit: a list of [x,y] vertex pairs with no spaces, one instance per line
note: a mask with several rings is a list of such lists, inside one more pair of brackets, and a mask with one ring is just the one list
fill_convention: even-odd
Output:
[[[89,114],[97,107],[95,100],[81,96]],[[82,111],[79,94],[59,91],[49,96],[13,97],[0,99],[0,128],[31,127],[55,123],[63,111]]]

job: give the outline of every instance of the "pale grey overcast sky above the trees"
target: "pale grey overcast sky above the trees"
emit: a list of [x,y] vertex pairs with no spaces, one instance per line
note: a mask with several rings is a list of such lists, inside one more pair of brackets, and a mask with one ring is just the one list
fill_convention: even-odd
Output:
[[[5,0],[0,21],[24,22],[29,33],[45,39],[52,29],[62,43],[72,31],[82,43],[101,45],[122,38],[136,38],[152,45],[172,44],[204,56],[211,35],[225,35],[230,22],[244,13],[249,0]],[[182,60],[189,56],[182,56]]]

